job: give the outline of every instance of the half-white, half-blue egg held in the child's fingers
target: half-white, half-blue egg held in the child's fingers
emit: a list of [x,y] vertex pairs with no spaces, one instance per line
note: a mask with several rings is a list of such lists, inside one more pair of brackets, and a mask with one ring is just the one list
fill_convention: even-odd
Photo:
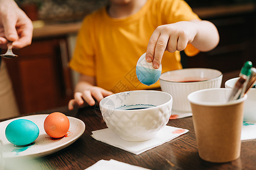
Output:
[[142,54],[142,56],[138,59],[136,65],[136,75],[141,83],[150,86],[158,81],[161,73],[162,65],[160,65],[159,69],[154,69],[154,67],[152,67],[152,62],[146,61],[146,53]]

